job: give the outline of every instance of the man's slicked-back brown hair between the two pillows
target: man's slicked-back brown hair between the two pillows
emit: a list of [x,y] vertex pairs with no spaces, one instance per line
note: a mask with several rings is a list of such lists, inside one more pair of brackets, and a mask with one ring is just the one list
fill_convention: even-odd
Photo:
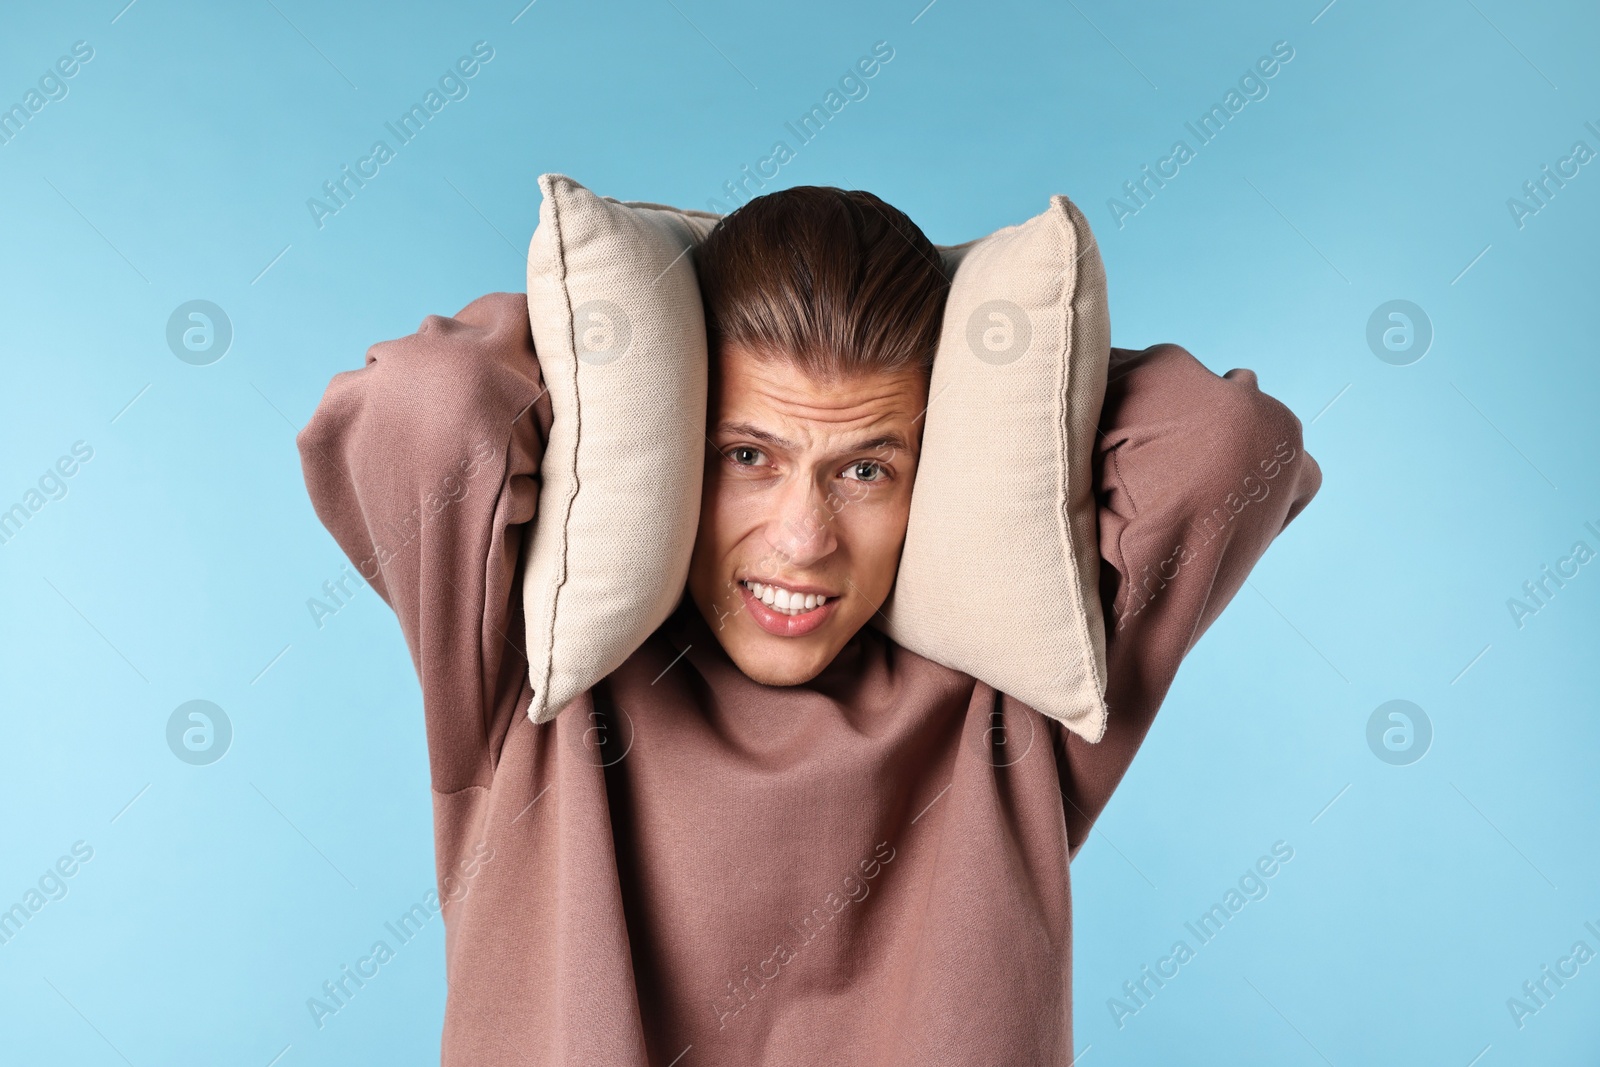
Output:
[[939,251],[870,192],[797,186],[720,219],[694,250],[715,366],[738,346],[822,381],[933,370],[949,278]]

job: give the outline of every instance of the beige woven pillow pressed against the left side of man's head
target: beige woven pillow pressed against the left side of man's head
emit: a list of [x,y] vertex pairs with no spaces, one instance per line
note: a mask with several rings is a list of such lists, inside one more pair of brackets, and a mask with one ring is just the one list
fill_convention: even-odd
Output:
[[523,569],[536,723],[677,606],[699,522],[706,322],[688,250],[702,211],[626,205],[542,174],[528,318],[555,421]]

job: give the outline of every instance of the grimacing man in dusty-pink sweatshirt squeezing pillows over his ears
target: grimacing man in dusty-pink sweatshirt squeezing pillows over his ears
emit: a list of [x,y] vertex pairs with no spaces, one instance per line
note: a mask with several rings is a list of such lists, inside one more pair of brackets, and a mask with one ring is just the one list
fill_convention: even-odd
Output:
[[443,1062],[1069,1064],[1069,861],[1320,485],[1299,422],[1250,371],[1114,352],[1091,745],[870,625],[942,312],[922,232],[792,189],[730,214],[696,270],[714,373],[688,587],[550,723],[526,715],[517,590],[554,421],[526,301],[374,346],[299,435],[422,685]]

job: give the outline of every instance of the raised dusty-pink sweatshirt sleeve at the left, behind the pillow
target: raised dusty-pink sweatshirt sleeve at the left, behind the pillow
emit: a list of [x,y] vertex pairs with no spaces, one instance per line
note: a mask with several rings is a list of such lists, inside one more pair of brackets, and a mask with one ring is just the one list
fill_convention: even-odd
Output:
[[443,793],[490,784],[531,699],[514,582],[550,421],[526,298],[493,293],[374,344],[296,438],[317,517],[400,621]]

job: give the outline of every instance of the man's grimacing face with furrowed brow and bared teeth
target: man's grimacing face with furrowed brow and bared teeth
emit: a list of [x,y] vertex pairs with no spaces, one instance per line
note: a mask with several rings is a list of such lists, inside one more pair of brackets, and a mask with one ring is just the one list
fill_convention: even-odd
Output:
[[926,371],[826,384],[730,347],[707,400],[690,595],[746,675],[810,681],[894,584]]

